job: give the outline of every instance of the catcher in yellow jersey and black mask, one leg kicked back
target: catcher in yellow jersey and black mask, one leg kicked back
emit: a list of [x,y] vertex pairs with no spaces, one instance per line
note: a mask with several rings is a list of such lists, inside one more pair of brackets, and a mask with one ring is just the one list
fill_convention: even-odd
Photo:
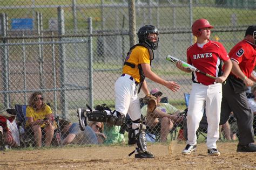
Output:
[[154,59],[153,50],[157,49],[159,41],[159,32],[153,25],[145,25],[138,31],[139,44],[130,48],[124,62],[123,73],[117,79],[114,85],[116,95],[115,109],[113,112],[108,110],[96,109],[92,111],[78,109],[80,129],[84,130],[86,118],[89,121],[108,122],[113,125],[122,125],[125,123],[127,112],[132,120],[132,129],[129,131],[129,144],[136,144],[136,149],[129,155],[135,153],[135,158],[154,158],[154,155],[147,151],[146,144],[146,126],[142,119],[140,103],[137,93],[140,89],[144,92],[145,101],[148,101],[147,111],[153,111],[156,108],[156,97],[151,96],[145,77],[162,84],[172,91],[177,91],[179,85],[173,81],[161,79],[157,74],[151,71],[151,61]]

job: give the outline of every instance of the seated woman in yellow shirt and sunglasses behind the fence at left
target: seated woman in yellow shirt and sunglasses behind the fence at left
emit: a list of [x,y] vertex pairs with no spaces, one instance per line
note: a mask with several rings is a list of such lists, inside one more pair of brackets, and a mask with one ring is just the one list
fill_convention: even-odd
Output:
[[53,115],[49,105],[44,103],[43,94],[34,92],[29,97],[29,105],[26,107],[26,129],[35,138],[36,146],[42,146],[42,131],[45,132],[45,146],[50,146],[53,138]]

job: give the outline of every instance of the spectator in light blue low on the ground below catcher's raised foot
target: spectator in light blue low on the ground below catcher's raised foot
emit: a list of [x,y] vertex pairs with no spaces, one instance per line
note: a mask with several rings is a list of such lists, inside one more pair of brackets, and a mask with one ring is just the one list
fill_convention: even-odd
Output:
[[60,119],[60,129],[62,131],[63,145],[76,144],[98,144],[96,133],[90,126],[85,126],[85,130],[81,131],[78,123],[71,123],[69,121]]

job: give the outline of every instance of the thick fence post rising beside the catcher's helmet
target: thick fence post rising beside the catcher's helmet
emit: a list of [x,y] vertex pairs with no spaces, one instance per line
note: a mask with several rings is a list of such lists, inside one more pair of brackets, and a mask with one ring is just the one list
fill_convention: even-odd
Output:
[[135,0],[131,0],[128,3],[129,6],[129,36],[130,47],[136,44],[136,13],[135,13]]

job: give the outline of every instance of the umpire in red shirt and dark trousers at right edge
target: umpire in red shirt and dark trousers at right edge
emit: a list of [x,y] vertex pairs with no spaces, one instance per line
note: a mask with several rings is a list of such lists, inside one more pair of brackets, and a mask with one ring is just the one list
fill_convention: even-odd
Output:
[[[237,152],[256,152],[253,133],[253,112],[248,104],[245,91],[253,86],[256,77],[252,74],[255,67],[256,25],[245,32],[245,38],[238,42],[228,54],[233,63],[227,83],[223,85],[221,103],[221,122],[223,124],[233,111],[237,118],[239,143]],[[225,70],[225,67],[224,67]]]

